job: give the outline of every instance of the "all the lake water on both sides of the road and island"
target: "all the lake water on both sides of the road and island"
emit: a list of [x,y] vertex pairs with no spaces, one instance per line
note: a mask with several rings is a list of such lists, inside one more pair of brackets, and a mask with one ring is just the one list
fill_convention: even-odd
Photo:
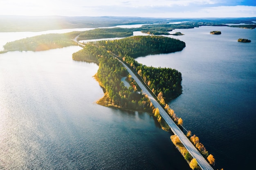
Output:
[[[168,35],[186,42],[182,51],[136,60],[182,73],[183,93],[169,104],[219,169],[254,166],[256,29],[175,31],[185,34]],[[0,33],[1,42],[30,35],[22,34]],[[0,169],[189,170],[150,114],[95,103],[98,66],[73,61],[80,49],[0,54]]]

